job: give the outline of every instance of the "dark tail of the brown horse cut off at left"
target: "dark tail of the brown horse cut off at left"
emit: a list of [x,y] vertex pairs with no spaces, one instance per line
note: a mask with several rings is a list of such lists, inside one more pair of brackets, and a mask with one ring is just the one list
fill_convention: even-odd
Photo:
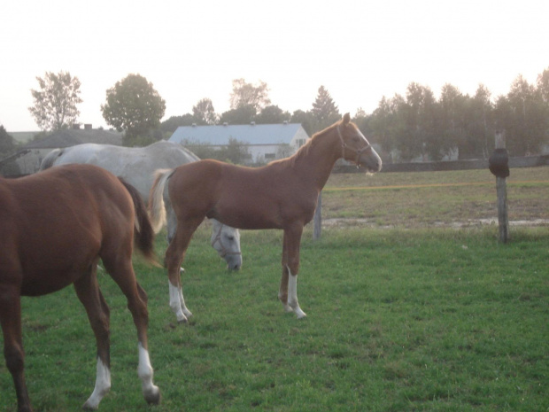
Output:
[[119,180],[124,185],[126,190],[128,190],[128,193],[134,203],[135,246],[137,246],[137,249],[143,253],[146,260],[155,266],[159,266],[159,262],[154,253],[154,230],[152,229],[151,221],[149,220],[149,215],[147,214],[145,202],[143,202],[143,198],[134,186],[124,181],[121,177],[119,177]]

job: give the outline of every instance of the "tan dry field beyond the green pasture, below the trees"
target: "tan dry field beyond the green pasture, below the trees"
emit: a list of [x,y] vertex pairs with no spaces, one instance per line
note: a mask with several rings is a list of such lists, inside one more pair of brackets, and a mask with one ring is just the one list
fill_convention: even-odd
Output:
[[[513,169],[506,180],[510,221],[549,219],[549,167]],[[322,216],[407,228],[498,222],[496,178],[488,170],[334,174],[322,194]]]

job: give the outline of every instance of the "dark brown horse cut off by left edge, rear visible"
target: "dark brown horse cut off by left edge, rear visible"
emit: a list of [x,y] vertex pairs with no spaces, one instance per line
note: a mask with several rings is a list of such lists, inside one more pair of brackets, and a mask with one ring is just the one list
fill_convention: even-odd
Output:
[[97,284],[100,259],[134,318],[143,396],[159,403],[148,353],[147,295],[135,281],[131,260],[134,237],[154,262],[154,233],[143,200],[133,186],[102,168],[67,165],[14,180],[0,178],[0,322],[19,412],[32,410],[23,370],[21,295],[44,295],[74,284],[97,340],[96,385],[84,408],[96,409],[109,391],[109,308]]

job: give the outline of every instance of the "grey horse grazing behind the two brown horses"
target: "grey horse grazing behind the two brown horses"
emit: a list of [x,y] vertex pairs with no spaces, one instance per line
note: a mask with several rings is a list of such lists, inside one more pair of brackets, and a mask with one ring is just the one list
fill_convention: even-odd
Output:
[[[64,149],[54,149],[46,155],[40,170],[69,163],[87,163],[120,176],[135,187],[143,201],[148,202],[154,171],[160,168],[173,168],[200,160],[181,144],[160,141],[146,147],[122,147],[112,144],[77,144]],[[168,242],[172,241],[177,229],[177,219],[169,201],[164,194],[166,205],[166,223]],[[211,244],[220,257],[227,262],[227,267],[237,270],[242,266],[240,250],[240,233],[237,229],[223,225],[215,219],[213,223]]]

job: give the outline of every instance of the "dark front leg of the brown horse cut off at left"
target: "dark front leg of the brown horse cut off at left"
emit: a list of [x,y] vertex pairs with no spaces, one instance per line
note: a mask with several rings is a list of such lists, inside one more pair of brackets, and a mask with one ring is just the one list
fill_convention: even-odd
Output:
[[0,286],[0,323],[2,323],[4,333],[5,363],[12,374],[15,385],[17,410],[32,412],[25,383],[25,353],[21,338],[21,302],[19,289],[16,287]]

